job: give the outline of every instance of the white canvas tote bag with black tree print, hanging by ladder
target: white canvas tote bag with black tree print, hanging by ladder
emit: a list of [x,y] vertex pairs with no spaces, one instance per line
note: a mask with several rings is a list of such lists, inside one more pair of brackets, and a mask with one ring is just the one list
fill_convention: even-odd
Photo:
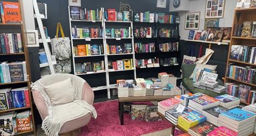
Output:
[[[60,29],[61,37],[58,37]],[[57,24],[56,35],[51,39],[52,53],[56,57],[57,64],[55,65],[56,73],[71,72],[71,47],[70,37],[65,37],[61,23]]]

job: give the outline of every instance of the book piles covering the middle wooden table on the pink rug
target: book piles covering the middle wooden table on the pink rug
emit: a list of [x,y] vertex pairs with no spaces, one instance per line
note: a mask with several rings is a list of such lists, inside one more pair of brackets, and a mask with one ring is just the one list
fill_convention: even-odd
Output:
[[118,97],[180,95],[182,90],[176,86],[177,78],[172,74],[159,73],[158,78],[136,78],[135,80],[117,80]]

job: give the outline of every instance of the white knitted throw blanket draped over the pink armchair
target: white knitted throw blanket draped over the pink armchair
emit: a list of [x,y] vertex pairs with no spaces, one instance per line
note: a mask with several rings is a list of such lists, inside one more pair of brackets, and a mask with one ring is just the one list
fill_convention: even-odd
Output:
[[[67,104],[52,106],[50,98],[44,89],[44,85],[40,83],[40,81],[36,81],[31,87],[32,90],[38,90],[41,93],[48,109],[48,116],[42,121],[42,130],[45,131],[46,135],[58,136],[63,124],[72,121],[73,119],[83,117],[88,113],[91,113],[94,118],[97,118],[95,108],[92,105],[89,105],[86,101],[75,99],[73,102]],[[75,93],[77,94],[74,96],[79,96],[78,94],[81,94],[81,92],[77,91],[75,91]]]

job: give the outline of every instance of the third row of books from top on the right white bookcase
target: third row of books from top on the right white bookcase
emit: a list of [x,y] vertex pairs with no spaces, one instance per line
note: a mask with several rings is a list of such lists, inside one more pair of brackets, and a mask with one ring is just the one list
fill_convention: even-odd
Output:
[[131,43],[124,43],[124,45],[107,45],[106,51],[108,55],[132,53]]

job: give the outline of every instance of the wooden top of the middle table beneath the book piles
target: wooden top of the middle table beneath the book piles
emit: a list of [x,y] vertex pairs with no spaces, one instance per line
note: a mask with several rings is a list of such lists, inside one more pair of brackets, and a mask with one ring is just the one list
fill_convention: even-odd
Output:
[[153,95],[153,96],[130,96],[118,97],[119,102],[132,102],[132,101],[162,101],[173,98],[174,95]]

